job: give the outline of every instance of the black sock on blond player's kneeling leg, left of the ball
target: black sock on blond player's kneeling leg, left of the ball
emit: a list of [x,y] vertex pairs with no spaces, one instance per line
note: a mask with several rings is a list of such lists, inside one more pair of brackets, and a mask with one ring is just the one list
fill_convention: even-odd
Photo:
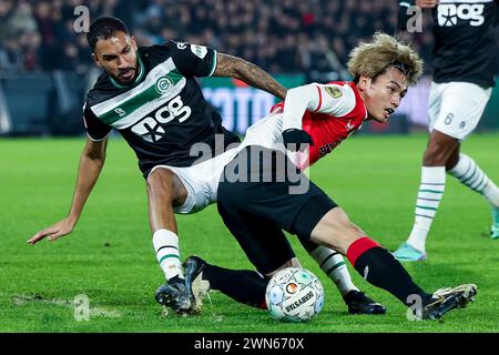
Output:
[[265,290],[268,278],[255,271],[230,270],[216,265],[206,265],[203,278],[210,282],[210,288],[246,305],[266,310]]

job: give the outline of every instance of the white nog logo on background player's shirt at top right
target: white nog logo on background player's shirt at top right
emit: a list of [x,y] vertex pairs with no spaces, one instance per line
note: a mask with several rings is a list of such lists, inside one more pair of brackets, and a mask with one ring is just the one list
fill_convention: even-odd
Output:
[[438,26],[456,26],[458,19],[468,21],[470,26],[481,26],[485,22],[482,3],[440,3],[438,6]]

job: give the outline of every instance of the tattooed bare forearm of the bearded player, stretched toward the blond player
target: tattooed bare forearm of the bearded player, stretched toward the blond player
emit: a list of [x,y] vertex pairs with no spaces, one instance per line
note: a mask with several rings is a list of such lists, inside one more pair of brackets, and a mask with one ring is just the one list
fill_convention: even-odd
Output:
[[216,69],[213,77],[230,77],[244,81],[248,85],[262,89],[279,99],[286,97],[286,88],[279,84],[258,65],[249,63],[238,57],[217,53]]

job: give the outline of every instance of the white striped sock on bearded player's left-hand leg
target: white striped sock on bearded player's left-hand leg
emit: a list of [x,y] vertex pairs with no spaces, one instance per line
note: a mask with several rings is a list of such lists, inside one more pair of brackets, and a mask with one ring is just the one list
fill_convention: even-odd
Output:
[[184,277],[179,251],[179,236],[169,230],[157,230],[153,235],[154,251],[166,281]]

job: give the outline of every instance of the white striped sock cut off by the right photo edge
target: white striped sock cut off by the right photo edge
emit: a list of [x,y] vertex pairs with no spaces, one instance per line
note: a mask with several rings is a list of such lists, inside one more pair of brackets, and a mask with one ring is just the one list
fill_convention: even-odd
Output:
[[471,158],[459,154],[458,163],[448,173],[464,185],[482,194],[490,204],[499,207],[499,189]]

